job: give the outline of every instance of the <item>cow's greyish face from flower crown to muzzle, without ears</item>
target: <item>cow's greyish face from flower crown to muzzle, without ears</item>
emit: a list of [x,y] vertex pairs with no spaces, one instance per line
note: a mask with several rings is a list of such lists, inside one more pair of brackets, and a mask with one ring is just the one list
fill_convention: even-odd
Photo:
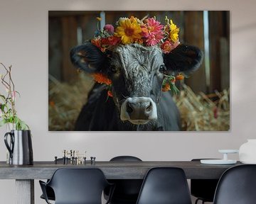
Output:
[[[161,94],[163,79],[159,72],[159,67],[164,64],[161,49],[138,44],[121,45],[113,50],[113,56],[112,90],[122,91],[114,93],[121,120],[137,125],[156,120],[156,98]],[[158,87],[154,87],[156,85]]]

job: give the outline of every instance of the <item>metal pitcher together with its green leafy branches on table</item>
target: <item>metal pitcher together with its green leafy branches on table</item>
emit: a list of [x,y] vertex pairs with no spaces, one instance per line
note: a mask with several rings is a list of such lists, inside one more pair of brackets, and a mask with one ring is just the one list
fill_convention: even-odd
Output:
[[11,127],[11,131],[4,135],[4,142],[9,151],[9,158],[6,162],[16,165],[33,164],[31,131],[28,125],[18,118],[16,112],[16,96],[20,94],[16,91],[11,77],[11,66],[6,67],[0,64],[4,68],[4,74],[0,75],[1,84],[6,89],[5,94],[0,94],[0,127],[3,125]]

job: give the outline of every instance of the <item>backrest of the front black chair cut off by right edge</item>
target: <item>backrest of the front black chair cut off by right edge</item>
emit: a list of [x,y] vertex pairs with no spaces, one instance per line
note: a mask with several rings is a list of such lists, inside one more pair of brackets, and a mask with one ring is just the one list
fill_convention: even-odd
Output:
[[256,203],[256,165],[234,166],[220,177],[215,204],[255,204]]

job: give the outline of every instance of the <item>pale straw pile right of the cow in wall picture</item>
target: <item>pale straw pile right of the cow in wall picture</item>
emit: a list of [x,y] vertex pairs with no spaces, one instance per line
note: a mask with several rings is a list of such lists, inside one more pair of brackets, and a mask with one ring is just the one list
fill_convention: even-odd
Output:
[[229,90],[196,95],[183,84],[181,94],[174,96],[181,112],[182,130],[228,131],[230,129]]

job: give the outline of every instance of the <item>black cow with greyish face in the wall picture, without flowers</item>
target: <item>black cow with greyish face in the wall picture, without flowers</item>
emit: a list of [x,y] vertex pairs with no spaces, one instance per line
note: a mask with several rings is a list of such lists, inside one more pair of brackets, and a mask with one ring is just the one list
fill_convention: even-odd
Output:
[[106,85],[95,84],[83,106],[75,130],[180,130],[178,108],[171,94],[162,92],[164,74],[191,74],[201,64],[197,47],[178,45],[169,54],[157,46],[118,45],[101,52],[91,42],[70,52],[75,67],[101,72],[112,80],[113,98]]

